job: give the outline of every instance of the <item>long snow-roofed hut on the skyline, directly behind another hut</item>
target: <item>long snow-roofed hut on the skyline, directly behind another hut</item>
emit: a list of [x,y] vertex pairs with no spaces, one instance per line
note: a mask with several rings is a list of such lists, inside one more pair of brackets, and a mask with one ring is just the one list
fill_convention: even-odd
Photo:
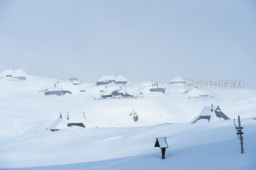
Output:
[[101,76],[101,78],[96,82],[96,84],[97,85],[109,84],[109,83],[125,84],[127,82],[128,82],[127,79],[123,75],[107,75],[107,76]]

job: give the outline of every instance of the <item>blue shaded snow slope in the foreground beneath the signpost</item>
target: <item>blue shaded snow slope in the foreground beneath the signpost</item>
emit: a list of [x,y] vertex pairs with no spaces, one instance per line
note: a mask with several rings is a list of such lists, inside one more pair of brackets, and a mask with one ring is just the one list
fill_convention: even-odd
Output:
[[[125,158],[108,159],[94,162],[41,166],[24,169],[255,169],[256,133],[247,136],[248,151],[243,155],[237,149],[237,139],[207,143],[179,149],[166,150],[162,160],[160,151]],[[215,148],[215,149],[210,149]],[[225,160],[225,161],[219,161]],[[239,163],[237,162],[239,160]],[[197,163],[200,161],[200,163]],[[196,163],[195,163],[196,162]]]

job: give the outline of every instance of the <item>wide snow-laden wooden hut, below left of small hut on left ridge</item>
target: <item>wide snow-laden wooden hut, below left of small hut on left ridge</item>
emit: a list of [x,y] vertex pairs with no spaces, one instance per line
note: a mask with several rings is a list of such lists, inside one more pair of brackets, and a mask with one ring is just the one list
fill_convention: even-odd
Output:
[[66,93],[72,94],[72,93],[84,92],[84,89],[81,89],[81,88],[75,86],[70,81],[58,81],[57,83],[54,83],[50,89],[47,89],[44,91],[45,91],[44,95],[46,95],[46,96],[47,95],[61,96],[62,94],[66,94]]

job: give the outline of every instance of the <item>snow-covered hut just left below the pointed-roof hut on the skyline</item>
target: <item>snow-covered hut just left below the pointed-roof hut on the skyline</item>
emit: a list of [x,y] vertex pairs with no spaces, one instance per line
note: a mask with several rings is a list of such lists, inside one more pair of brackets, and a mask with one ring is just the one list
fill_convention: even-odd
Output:
[[140,94],[149,94],[151,92],[162,92],[165,94],[165,89],[163,83],[144,83],[140,90]]

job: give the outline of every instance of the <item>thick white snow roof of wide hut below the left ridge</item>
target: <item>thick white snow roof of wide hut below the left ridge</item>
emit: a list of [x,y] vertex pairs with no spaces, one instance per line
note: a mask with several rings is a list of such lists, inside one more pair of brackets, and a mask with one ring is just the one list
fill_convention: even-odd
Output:
[[71,93],[79,93],[81,92],[80,90],[83,90],[77,86],[75,86],[72,82],[70,81],[58,81],[56,83],[53,83],[52,88],[46,90],[46,91],[70,91]]

